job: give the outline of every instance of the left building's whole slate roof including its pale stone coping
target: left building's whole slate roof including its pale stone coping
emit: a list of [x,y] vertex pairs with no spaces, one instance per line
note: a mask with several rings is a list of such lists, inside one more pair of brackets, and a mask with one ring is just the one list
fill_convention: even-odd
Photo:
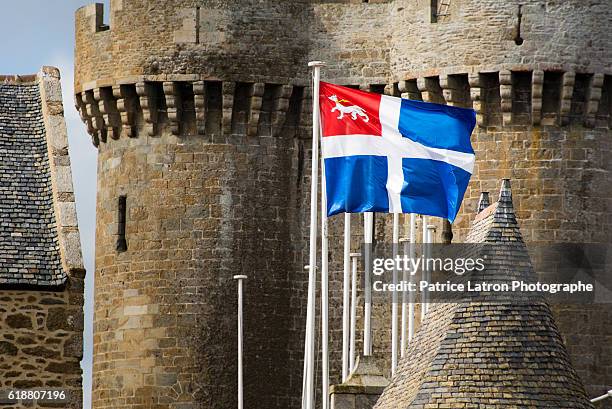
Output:
[[59,70],[0,76],[0,111],[0,286],[60,288],[84,266]]

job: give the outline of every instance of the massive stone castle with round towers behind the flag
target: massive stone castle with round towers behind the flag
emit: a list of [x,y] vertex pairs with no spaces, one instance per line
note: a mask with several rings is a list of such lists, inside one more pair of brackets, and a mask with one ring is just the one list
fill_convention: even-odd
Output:
[[[75,98],[99,149],[94,408],[234,406],[239,273],[247,405],[299,406],[311,59],[327,81],[477,111],[454,240],[511,178],[527,243],[609,242],[611,20],[598,0],[112,0],[108,23],[79,9]],[[603,313],[558,320],[593,393],[612,367]],[[331,342],[334,383],[340,331]]]

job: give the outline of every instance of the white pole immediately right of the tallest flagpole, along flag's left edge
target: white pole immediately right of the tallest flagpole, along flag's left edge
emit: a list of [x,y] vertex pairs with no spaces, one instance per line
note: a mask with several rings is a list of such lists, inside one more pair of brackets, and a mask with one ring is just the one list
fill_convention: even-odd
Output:
[[[322,149],[322,146],[321,146]],[[329,406],[329,238],[327,235],[327,194],[325,160],[321,155],[321,395],[322,409]]]

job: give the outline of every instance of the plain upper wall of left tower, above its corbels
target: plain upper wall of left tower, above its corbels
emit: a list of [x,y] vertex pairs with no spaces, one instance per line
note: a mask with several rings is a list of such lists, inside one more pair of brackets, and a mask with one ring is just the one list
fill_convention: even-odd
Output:
[[[304,1],[134,2],[114,0],[76,13],[76,90],[136,75],[285,84],[304,77]],[[143,53],[142,50],[147,50]]]

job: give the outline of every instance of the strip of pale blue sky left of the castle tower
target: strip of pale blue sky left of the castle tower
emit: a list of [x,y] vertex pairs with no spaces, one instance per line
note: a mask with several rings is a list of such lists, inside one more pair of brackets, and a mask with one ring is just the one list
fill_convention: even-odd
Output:
[[[74,108],[74,12],[93,0],[19,0],[0,4],[0,74],[35,74],[43,65],[60,69],[72,178],[76,193],[85,279],[84,408],[91,407],[94,245],[97,151]],[[108,10],[109,0],[105,3]],[[105,13],[108,15],[108,13]]]

